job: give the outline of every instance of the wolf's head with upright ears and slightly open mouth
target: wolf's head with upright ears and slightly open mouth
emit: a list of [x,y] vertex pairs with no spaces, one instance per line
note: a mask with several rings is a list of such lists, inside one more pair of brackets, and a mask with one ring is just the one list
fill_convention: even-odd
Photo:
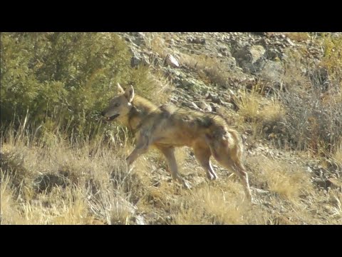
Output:
[[108,108],[101,112],[101,115],[105,117],[105,121],[113,121],[118,116],[125,116],[132,109],[132,101],[134,98],[133,86],[128,86],[126,90],[118,84],[119,95],[110,99]]

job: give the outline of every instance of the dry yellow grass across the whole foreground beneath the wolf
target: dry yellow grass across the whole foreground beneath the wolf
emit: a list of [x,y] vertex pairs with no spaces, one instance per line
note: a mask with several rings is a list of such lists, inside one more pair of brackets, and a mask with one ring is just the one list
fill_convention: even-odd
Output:
[[[187,178],[193,185],[190,191],[170,181],[154,151],[138,158],[128,172],[124,158],[132,146],[120,151],[119,147],[102,146],[93,156],[88,146],[67,146],[3,144],[1,223],[132,224],[139,213],[151,224],[341,222],[341,192],[314,191],[308,174],[287,161],[247,159],[252,186],[270,192],[267,196],[254,192],[257,201],[269,202],[264,206],[246,201],[236,176],[217,171],[218,181],[199,180],[204,176],[202,168],[188,160],[182,162],[188,157],[184,150],[177,151],[177,159],[182,173],[195,169]],[[21,162],[15,161],[19,158],[15,152],[22,153]],[[14,169],[16,176],[9,172]],[[50,178],[46,181],[49,190],[36,187],[43,176]],[[53,182],[56,176],[63,180]]]

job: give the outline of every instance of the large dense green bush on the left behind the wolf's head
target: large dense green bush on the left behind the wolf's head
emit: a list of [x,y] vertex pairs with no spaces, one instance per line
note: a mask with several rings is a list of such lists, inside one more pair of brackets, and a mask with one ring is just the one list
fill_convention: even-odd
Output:
[[39,133],[95,136],[117,82],[148,84],[130,58],[113,33],[1,33],[1,132],[26,117]]

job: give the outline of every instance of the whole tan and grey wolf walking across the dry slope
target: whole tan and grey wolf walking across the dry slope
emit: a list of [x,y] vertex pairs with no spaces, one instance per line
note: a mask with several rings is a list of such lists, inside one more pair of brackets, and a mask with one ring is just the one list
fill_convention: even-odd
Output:
[[242,136],[229,128],[221,116],[185,110],[170,104],[156,106],[135,94],[133,86],[124,90],[118,84],[118,91],[118,96],[110,99],[101,115],[105,121],[119,121],[133,131],[136,146],[126,158],[128,167],[151,147],[155,147],[165,156],[172,179],[189,188],[187,181],[178,172],[175,159],[175,147],[188,146],[194,151],[209,180],[217,179],[210,163],[210,156],[213,156],[237,175],[247,198],[252,201],[248,175],[242,163]]

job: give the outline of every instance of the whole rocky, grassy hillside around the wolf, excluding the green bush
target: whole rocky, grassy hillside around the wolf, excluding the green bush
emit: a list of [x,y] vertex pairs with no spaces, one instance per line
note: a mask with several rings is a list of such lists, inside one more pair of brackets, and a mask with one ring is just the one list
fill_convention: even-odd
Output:
[[[341,33],[118,35],[130,48],[133,69],[148,69],[154,91],[147,98],[220,114],[242,133],[256,203],[246,201],[234,174],[215,162],[219,180],[207,181],[188,148],[176,158],[190,191],[171,183],[154,151],[127,173],[124,159],[133,146],[118,143],[115,135],[124,132],[117,129],[110,135],[115,147],[91,153],[90,146],[31,151],[5,143],[2,169],[17,175],[3,181],[19,186],[25,178],[33,185],[34,193],[22,196],[1,189],[11,216],[18,216],[14,208],[31,206],[24,208],[31,219],[26,214],[17,223],[342,223]],[[68,189],[71,184],[76,188]],[[73,204],[65,200],[71,195]],[[22,199],[15,203],[12,196]]]

